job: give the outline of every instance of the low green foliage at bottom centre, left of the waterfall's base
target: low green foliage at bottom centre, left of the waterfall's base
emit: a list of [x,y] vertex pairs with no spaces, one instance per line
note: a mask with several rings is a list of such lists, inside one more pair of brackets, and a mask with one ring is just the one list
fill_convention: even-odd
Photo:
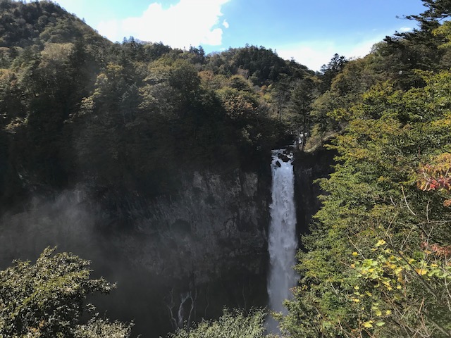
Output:
[[261,310],[245,315],[242,311],[225,309],[218,320],[202,320],[193,328],[185,327],[170,338],[264,338],[266,313]]

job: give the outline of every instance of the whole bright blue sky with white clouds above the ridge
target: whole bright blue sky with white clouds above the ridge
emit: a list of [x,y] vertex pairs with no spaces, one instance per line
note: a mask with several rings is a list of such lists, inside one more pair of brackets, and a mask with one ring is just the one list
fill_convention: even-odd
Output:
[[265,46],[313,70],[333,54],[360,57],[385,35],[416,27],[396,18],[421,0],[56,0],[111,41],[133,36],[207,53]]

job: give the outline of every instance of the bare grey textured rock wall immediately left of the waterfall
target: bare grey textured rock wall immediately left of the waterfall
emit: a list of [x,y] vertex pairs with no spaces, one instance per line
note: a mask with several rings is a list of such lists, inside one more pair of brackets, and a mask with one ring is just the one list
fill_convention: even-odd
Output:
[[135,232],[116,243],[130,261],[165,277],[190,276],[194,284],[228,270],[264,273],[266,182],[236,170],[228,177],[194,173],[183,184],[176,199],[149,202],[148,216],[138,218]]

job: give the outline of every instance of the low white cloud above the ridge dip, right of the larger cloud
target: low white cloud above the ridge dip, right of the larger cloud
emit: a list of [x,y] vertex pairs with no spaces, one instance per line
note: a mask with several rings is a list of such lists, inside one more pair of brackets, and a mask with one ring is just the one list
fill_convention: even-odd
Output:
[[369,54],[371,47],[376,42],[381,42],[385,35],[379,35],[371,39],[366,39],[357,44],[340,44],[340,42],[310,41],[300,44],[278,46],[276,48],[278,56],[295,61],[302,65],[307,65],[311,70],[319,70],[321,65],[330,61],[333,54],[337,53],[346,58],[361,58]]

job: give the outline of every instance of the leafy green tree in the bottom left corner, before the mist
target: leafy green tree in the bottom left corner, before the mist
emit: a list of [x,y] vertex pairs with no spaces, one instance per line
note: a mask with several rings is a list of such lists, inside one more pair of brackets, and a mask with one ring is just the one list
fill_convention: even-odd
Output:
[[108,294],[116,287],[89,277],[89,261],[73,253],[54,253],[47,248],[34,265],[14,261],[0,272],[1,337],[111,337],[130,336],[130,325],[110,323],[92,315],[82,324],[82,315],[93,313],[87,295]]

